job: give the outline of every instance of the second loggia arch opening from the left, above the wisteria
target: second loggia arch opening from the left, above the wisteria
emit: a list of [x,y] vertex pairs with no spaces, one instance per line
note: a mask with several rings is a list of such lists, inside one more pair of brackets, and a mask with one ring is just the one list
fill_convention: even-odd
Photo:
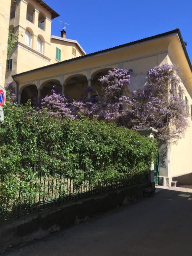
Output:
[[40,85],[41,96],[42,97],[50,96],[51,95],[51,90],[53,89],[53,86],[56,86],[57,91],[61,92],[62,87],[61,87],[60,81],[57,80],[57,79],[51,79],[51,80],[47,80],[46,82],[43,82]]

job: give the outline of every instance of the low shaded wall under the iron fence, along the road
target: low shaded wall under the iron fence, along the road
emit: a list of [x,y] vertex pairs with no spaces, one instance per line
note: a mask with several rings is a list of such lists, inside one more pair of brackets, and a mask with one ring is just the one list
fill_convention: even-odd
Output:
[[108,194],[93,196],[78,202],[52,207],[41,212],[0,223],[0,253],[34,239],[48,236],[52,232],[68,228],[93,214],[106,212],[117,205],[130,204],[142,198],[146,183],[132,188],[114,190]]

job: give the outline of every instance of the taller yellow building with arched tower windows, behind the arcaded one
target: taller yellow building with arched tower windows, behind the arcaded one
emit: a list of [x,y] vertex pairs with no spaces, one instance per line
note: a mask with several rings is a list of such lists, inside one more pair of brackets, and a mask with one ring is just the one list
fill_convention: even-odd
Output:
[[[76,40],[51,36],[52,19],[59,16],[41,0],[11,0],[9,30],[19,34],[18,43],[10,53],[6,82],[12,74],[85,55]],[[8,33],[8,32],[7,32]]]

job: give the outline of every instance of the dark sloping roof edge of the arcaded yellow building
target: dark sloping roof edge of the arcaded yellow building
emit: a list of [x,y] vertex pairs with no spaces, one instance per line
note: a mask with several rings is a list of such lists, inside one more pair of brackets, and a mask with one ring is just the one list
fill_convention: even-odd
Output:
[[171,35],[171,34],[178,34],[179,36],[179,39],[180,39],[180,42],[181,42],[181,45],[182,45],[182,48],[184,50],[184,53],[185,53],[185,56],[186,56],[186,59],[188,61],[188,64],[190,66],[190,69],[192,71],[192,65],[191,65],[191,62],[190,62],[190,59],[189,59],[189,56],[188,56],[188,53],[187,53],[187,50],[186,50],[186,46],[185,46],[185,43],[184,43],[184,40],[182,38],[182,35],[181,35],[181,32],[179,30],[179,28],[176,28],[174,30],[170,30],[168,32],[165,32],[165,33],[162,33],[162,34],[158,34],[158,35],[155,35],[155,36],[150,36],[150,37],[146,37],[146,38],[143,38],[143,39],[140,39],[140,40],[137,40],[137,41],[133,41],[133,42],[129,42],[129,43],[126,43],[126,44],[121,44],[121,45],[118,45],[118,46],[114,46],[112,48],[107,48],[105,50],[100,50],[98,52],[92,52],[90,54],[86,54],[84,56],[79,56],[79,57],[76,57],[76,58],[72,58],[72,59],[69,59],[69,60],[64,60],[64,61],[61,61],[61,62],[57,62],[57,63],[54,63],[54,64],[50,64],[50,65],[47,65],[47,66],[43,66],[43,67],[40,67],[40,68],[35,68],[33,70],[29,70],[29,71],[26,71],[26,72],[22,72],[20,74],[15,74],[15,75],[12,75],[12,78],[16,77],[16,76],[21,76],[23,74],[27,74],[27,73],[30,73],[30,72],[35,72],[36,70],[45,70],[46,68],[49,68],[49,67],[52,67],[52,66],[60,66],[64,63],[70,63],[70,62],[74,62],[76,60],[80,60],[80,59],[84,59],[84,58],[88,58],[90,56],[96,56],[97,54],[102,54],[102,53],[105,53],[105,52],[110,52],[112,50],[116,50],[116,49],[120,49],[120,48],[124,48],[124,47],[127,47],[127,46],[132,46],[134,44],[139,44],[139,43],[142,43],[142,42],[146,42],[146,41],[150,41],[150,40],[153,40],[153,39],[156,39],[156,38],[161,38],[161,37],[165,37],[165,36],[168,36],[168,35]]

